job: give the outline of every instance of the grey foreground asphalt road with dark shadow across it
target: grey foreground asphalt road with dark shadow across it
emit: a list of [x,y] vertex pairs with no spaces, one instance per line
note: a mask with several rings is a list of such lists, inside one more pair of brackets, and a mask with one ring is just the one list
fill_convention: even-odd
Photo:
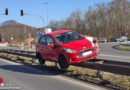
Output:
[[[103,90],[77,80],[52,75],[0,58],[0,77],[20,90]],[[11,89],[10,89],[11,90]]]

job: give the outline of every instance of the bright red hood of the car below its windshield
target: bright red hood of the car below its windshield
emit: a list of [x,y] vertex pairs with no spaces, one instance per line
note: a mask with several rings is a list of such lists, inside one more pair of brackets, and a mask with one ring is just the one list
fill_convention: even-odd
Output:
[[74,49],[74,50],[78,50],[78,49],[82,49],[83,47],[87,48],[87,47],[91,47],[92,44],[88,39],[82,39],[82,40],[77,40],[77,41],[73,41],[70,43],[66,43],[66,44],[61,44],[62,47],[64,48],[70,48],[70,49]]

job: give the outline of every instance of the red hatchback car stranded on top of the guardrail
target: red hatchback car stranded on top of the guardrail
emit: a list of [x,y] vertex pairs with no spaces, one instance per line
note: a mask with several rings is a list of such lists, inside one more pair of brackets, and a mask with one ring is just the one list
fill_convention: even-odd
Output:
[[[93,45],[94,44],[94,45]],[[98,46],[71,30],[61,30],[44,34],[36,44],[36,56],[40,64],[46,60],[58,62],[61,69],[69,64],[96,58]]]

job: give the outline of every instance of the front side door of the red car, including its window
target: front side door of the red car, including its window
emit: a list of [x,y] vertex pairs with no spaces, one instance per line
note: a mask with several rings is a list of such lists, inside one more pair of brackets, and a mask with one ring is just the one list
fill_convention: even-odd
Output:
[[58,55],[58,47],[50,47],[50,44],[54,44],[55,45],[55,41],[50,37],[50,36],[46,36],[46,55],[47,55],[47,59],[51,60],[51,61],[57,61],[57,55]]

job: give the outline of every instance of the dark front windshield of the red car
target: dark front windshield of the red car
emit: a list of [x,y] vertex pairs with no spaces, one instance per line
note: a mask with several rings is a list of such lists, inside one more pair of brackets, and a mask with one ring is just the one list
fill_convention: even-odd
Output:
[[59,34],[59,35],[55,35],[54,38],[60,44],[65,44],[65,43],[73,42],[73,41],[76,41],[76,40],[84,39],[84,37],[80,36],[78,33],[75,33],[75,32],[62,33],[62,34]]

